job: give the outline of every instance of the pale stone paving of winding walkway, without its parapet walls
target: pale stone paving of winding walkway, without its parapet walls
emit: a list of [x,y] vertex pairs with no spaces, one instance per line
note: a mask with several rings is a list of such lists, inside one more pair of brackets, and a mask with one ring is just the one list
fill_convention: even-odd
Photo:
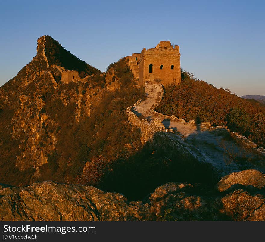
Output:
[[240,147],[228,133],[210,131],[202,129],[200,125],[165,119],[157,113],[151,112],[151,107],[159,98],[160,91],[158,83],[153,82],[145,85],[147,98],[133,109],[140,119],[148,119],[148,122],[155,118],[161,119],[166,129],[177,131],[177,133],[165,133],[165,135],[171,135],[180,145],[185,145],[188,149],[193,150],[195,155],[201,158],[200,160],[212,163],[223,174],[242,169],[238,162],[234,162],[235,160],[243,162],[247,160],[248,166],[262,172],[265,171],[265,157],[256,149]]

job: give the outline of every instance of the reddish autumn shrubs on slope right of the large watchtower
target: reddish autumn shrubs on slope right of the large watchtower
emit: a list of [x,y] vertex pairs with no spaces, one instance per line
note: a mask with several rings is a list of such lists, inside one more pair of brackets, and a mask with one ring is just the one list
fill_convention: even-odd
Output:
[[180,85],[168,85],[157,111],[187,121],[228,126],[258,145],[265,146],[265,106],[244,100],[229,89],[215,88],[182,70]]

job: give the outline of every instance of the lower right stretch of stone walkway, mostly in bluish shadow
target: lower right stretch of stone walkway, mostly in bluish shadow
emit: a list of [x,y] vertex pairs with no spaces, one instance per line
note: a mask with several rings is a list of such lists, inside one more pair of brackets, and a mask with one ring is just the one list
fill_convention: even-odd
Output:
[[[196,125],[193,131],[189,130],[189,123],[179,123],[179,126],[172,126],[170,119],[162,121],[165,128],[185,134],[185,142],[199,149],[206,154],[218,169],[231,173],[244,169],[257,169],[265,172],[265,159],[253,149],[240,146],[227,132],[209,130]],[[175,123],[175,122],[173,122]],[[186,128],[187,129],[186,129]],[[185,130],[186,129],[186,130]],[[187,135],[188,134],[188,135]]]

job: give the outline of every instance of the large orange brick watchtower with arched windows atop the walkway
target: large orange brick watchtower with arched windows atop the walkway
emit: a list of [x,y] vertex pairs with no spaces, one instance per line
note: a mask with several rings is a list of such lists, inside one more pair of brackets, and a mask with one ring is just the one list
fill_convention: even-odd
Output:
[[163,85],[181,81],[179,46],[171,45],[170,41],[160,41],[155,48],[144,48],[128,58],[133,75],[141,85],[155,79],[161,79]]

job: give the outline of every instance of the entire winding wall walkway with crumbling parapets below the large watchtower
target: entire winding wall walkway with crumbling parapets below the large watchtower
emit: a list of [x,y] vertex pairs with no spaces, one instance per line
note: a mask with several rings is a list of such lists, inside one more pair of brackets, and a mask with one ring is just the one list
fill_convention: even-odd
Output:
[[222,174],[239,171],[240,165],[234,162],[235,159],[248,160],[248,166],[265,171],[264,153],[255,149],[253,142],[224,127],[214,128],[207,122],[196,125],[175,116],[157,113],[155,108],[163,96],[160,83],[146,83],[145,92],[146,100],[139,100],[126,110],[128,120],[140,127],[142,133],[149,133],[149,136],[150,132],[163,135],[167,141],[176,144],[178,149],[189,152],[202,162],[210,162]]

